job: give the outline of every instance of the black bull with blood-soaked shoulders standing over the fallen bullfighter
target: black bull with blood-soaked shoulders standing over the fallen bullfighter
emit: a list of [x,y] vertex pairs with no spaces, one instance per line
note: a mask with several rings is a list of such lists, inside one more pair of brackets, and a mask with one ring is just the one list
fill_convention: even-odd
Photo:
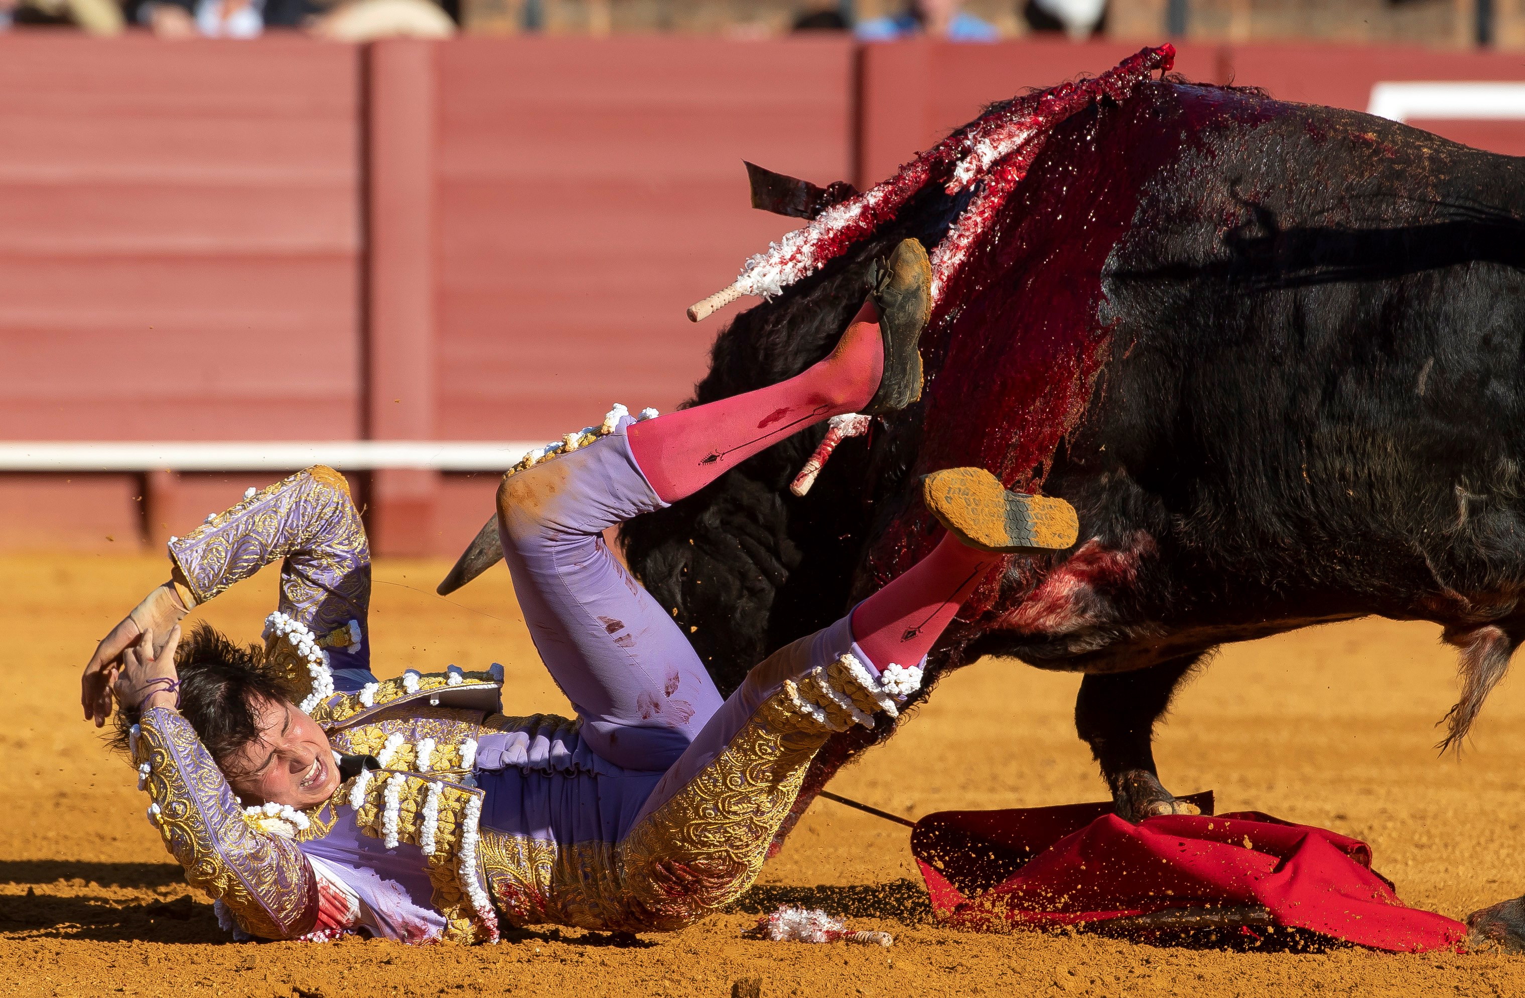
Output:
[[[958,207],[923,192],[741,314],[695,399],[822,358],[868,262],[906,235],[933,245]],[[1525,160],[1255,91],[1145,84],[1049,137],[991,239],[1022,250],[990,248],[988,279],[956,306],[974,318],[929,332],[921,404],[843,443],[805,498],[787,483],[819,430],[627,524],[630,564],[729,692],[924,550],[917,475],[984,457],[1069,500],[1081,544],[1011,559],[929,675],[985,654],[1083,672],[1077,727],[1122,814],[1174,806],[1153,725],[1225,641],[1434,620],[1461,649],[1453,741],[1525,635],[1522,218]],[[1019,297],[1029,315],[1074,312],[1072,341],[1003,320]],[[1042,349],[1010,349],[1034,335]],[[1051,401],[1058,445],[1013,468],[1020,440],[990,427],[1043,390],[1020,361],[1084,343],[1100,355],[1077,404]],[[839,736],[807,789],[868,737]]]

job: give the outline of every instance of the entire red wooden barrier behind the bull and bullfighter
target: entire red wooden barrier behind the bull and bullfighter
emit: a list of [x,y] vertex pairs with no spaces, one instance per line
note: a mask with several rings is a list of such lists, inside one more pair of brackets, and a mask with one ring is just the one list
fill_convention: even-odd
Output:
[[[541,440],[668,410],[724,321],[683,306],[791,227],[741,158],[871,183],[1136,49],[0,37],[0,437]],[[1365,110],[1525,56],[1182,46],[1177,70]],[[1420,123],[1525,152],[1520,122]],[[0,475],[0,547],[181,532],[258,477]],[[377,550],[453,553],[494,483],[371,475]]]

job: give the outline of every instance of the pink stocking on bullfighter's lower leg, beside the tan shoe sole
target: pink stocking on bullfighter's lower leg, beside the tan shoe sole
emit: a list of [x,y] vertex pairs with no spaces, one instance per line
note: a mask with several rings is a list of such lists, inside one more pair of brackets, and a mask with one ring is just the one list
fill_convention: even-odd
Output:
[[875,669],[920,663],[1000,558],[946,533],[930,555],[857,605],[852,638]]

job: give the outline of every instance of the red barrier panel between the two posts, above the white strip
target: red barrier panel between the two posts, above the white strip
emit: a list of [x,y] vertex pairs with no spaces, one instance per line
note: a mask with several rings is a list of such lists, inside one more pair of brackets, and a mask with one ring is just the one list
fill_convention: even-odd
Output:
[[[439,49],[439,434],[554,439],[668,410],[720,328],[683,309],[793,226],[750,158],[851,166],[840,40],[468,40]],[[724,317],[721,317],[724,321]]]

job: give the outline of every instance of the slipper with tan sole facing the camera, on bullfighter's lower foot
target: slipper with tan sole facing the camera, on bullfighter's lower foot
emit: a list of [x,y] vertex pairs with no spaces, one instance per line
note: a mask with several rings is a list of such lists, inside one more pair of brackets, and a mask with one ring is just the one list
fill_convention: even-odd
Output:
[[921,478],[921,500],[959,541],[982,552],[1064,549],[1080,520],[1061,498],[1010,492],[984,468],[949,468]]

